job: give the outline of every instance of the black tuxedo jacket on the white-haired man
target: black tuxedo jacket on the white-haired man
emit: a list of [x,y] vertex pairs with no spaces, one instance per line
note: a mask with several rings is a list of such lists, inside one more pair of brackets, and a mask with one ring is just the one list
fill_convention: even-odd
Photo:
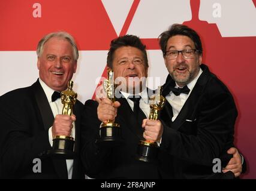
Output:
[[[80,115],[83,104],[76,101],[74,152],[80,150]],[[46,94],[37,80],[31,87],[10,91],[0,97],[0,174],[2,178],[68,178],[65,159],[46,155],[52,149],[49,128],[54,117]],[[41,160],[41,172],[33,167]],[[38,169],[38,168],[37,168]],[[73,178],[84,178],[80,158],[74,159]]]

